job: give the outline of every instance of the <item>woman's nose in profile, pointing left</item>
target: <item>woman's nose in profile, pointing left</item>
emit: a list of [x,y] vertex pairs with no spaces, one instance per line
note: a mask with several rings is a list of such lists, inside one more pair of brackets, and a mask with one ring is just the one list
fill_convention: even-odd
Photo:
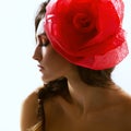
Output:
[[43,56],[41,56],[41,48],[39,46],[36,47],[34,55],[33,55],[33,59],[37,60],[38,62],[41,61]]

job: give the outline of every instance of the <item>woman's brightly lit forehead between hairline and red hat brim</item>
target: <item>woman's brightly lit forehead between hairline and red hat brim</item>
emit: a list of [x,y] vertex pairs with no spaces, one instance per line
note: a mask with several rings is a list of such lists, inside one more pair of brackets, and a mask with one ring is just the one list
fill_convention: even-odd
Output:
[[46,35],[44,25],[45,25],[45,19],[41,19],[36,31],[36,37],[43,34]]

